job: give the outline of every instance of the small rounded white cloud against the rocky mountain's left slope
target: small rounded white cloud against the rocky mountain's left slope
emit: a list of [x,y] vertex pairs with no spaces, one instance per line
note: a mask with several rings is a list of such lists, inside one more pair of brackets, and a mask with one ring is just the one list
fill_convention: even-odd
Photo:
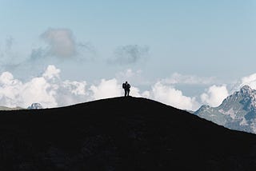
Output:
[[212,107],[221,105],[222,101],[229,95],[226,85],[212,85],[207,89],[206,93],[201,94],[202,103],[206,103]]

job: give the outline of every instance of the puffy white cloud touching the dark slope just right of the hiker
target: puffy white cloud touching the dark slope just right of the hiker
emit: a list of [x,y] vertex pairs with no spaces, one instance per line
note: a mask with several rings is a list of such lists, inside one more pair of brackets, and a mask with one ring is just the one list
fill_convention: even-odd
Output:
[[186,97],[181,90],[174,89],[169,85],[163,85],[157,82],[150,92],[144,92],[143,95],[152,97],[156,101],[161,101],[167,105],[172,105],[179,109],[198,109],[198,102],[195,97]]

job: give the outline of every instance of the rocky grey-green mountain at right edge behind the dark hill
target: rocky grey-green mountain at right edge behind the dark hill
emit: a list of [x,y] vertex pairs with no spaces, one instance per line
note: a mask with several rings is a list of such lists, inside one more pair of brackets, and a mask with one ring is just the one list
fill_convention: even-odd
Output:
[[256,90],[244,85],[218,107],[202,105],[194,114],[229,129],[256,133]]

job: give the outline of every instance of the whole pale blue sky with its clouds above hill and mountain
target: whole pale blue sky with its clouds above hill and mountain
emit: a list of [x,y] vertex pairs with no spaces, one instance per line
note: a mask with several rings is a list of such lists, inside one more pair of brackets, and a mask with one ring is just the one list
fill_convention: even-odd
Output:
[[179,109],[256,89],[254,0],[0,0],[0,105],[123,95]]

